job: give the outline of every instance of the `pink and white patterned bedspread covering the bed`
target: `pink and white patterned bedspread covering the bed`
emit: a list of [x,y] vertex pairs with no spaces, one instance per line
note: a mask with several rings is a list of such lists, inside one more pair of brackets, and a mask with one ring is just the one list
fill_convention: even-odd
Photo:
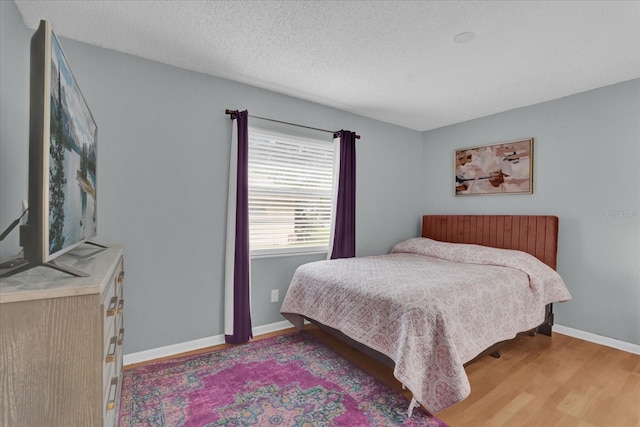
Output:
[[527,253],[414,238],[387,255],[300,266],[280,311],[298,328],[306,316],[390,357],[394,376],[438,412],[469,395],[464,363],[570,298]]

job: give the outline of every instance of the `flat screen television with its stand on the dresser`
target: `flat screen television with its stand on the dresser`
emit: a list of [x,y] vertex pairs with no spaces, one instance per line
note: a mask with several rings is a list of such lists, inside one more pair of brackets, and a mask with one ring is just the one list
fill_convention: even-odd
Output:
[[28,266],[83,275],[53,260],[97,235],[98,127],[48,21],[31,38]]

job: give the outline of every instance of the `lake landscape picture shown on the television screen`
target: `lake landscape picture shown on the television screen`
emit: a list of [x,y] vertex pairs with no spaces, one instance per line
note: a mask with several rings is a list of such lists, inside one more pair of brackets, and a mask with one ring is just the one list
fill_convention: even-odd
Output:
[[51,38],[49,253],[96,236],[97,126]]

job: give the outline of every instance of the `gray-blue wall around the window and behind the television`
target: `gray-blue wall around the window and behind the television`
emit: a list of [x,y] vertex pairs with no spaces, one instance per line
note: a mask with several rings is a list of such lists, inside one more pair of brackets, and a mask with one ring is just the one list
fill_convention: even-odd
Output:
[[[33,31],[24,26],[13,2],[0,2],[0,19],[1,228],[17,217],[27,198]],[[225,108],[362,136],[357,146],[358,255],[388,252],[419,232],[425,197],[420,132],[88,44],[61,43],[98,123],[97,240],[125,246],[125,354],[223,333],[231,138]],[[265,127],[268,122],[251,124]],[[16,230],[2,242],[0,257],[18,250]],[[284,320],[280,304],[270,303],[271,290],[284,295],[295,268],[321,258],[253,262],[254,326]]]

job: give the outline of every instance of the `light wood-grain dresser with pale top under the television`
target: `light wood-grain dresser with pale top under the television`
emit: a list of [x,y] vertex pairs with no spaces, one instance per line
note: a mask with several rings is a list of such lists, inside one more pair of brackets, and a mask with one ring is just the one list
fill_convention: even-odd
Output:
[[0,425],[117,426],[122,384],[123,249],[82,245],[0,279]]

